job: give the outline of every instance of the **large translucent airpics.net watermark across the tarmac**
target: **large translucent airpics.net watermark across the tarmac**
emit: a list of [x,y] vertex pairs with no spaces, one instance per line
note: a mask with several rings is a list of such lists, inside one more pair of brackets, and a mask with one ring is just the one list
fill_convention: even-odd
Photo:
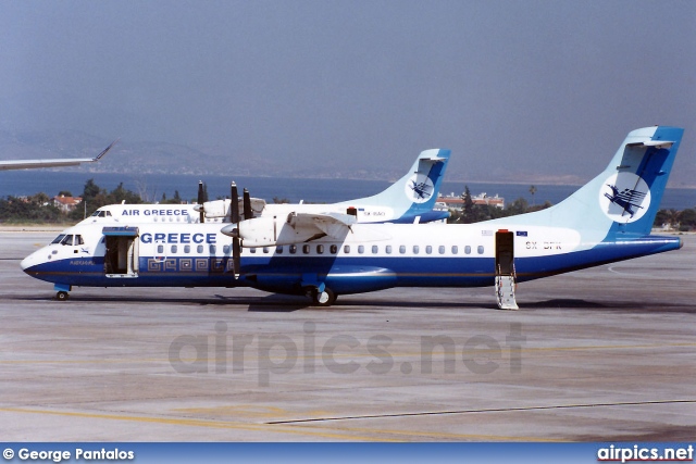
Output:
[[[502,339],[473,335],[463,339],[448,335],[421,336],[405,348],[386,335],[359,339],[350,335],[334,335],[318,340],[316,325],[307,322],[296,338],[282,334],[232,334],[224,322],[215,323],[212,335],[182,335],[169,349],[170,364],[179,374],[244,375],[256,372],[261,387],[268,387],[271,376],[301,372],[313,374],[323,366],[332,374],[355,374],[364,369],[384,375],[398,368],[402,375],[420,374],[492,374],[508,367],[510,374],[522,372],[522,324],[510,324]],[[456,341],[457,340],[457,341]],[[407,352],[408,351],[408,352]],[[398,361],[401,358],[417,362]],[[442,367],[439,367],[442,364]],[[437,372],[434,365],[438,365]],[[246,369],[246,371],[245,371]]]

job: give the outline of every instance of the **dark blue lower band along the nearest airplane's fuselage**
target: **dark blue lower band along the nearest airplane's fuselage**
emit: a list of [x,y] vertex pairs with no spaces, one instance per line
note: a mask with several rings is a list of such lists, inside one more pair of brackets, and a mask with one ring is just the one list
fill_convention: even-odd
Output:
[[[600,243],[589,250],[534,258],[515,258],[518,280],[525,281],[597,264],[627,260],[680,248],[679,238],[646,238]],[[336,293],[360,293],[391,287],[485,287],[494,285],[495,260],[477,256],[303,256],[243,258],[235,279],[232,259],[140,256],[137,277],[107,277],[104,259],[71,259],[44,263],[25,272],[47,281],[95,287],[254,287],[301,292],[302,279],[313,275]]]

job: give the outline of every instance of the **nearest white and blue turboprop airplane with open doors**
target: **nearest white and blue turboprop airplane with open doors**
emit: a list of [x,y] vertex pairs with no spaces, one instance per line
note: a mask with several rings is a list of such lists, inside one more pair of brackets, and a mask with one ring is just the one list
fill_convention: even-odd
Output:
[[83,224],[21,265],[53,283],[59,300],[74,286],[241,286],[330,305],[337,296],[393,287],[495,286],[498,305],[517,309],[517,283],[682,247],[679,237],[650,235],[682,135],[666,126],[633,130],[597,177],[559,204],[519,216],[468,225],[293,215]]

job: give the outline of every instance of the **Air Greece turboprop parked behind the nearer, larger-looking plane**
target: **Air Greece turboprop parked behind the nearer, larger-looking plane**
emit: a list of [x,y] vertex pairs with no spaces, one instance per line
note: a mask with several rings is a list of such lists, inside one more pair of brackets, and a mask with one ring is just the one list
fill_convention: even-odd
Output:
[[[386,190],[372,197],[333,204],[266,204],[262,199],[249,198],[250,209],[244,218],[258,216],[287,217],[294,214],[352,215],[358,223],[427,223],[449,217],[447,210],[434,210],[435,200],[447,170],[449,150],[425,150],[415,159],[411,170]],[[231,198],[238,199],[233,184]],[[245,189],[245,196],[248,192]],[[83,221],[89,223],[228,223],[231,200],[203,202],[203,185],[198,185],[198,204],[110,204],[101,206]],[[244,204],[236,201],[237,208]]]

